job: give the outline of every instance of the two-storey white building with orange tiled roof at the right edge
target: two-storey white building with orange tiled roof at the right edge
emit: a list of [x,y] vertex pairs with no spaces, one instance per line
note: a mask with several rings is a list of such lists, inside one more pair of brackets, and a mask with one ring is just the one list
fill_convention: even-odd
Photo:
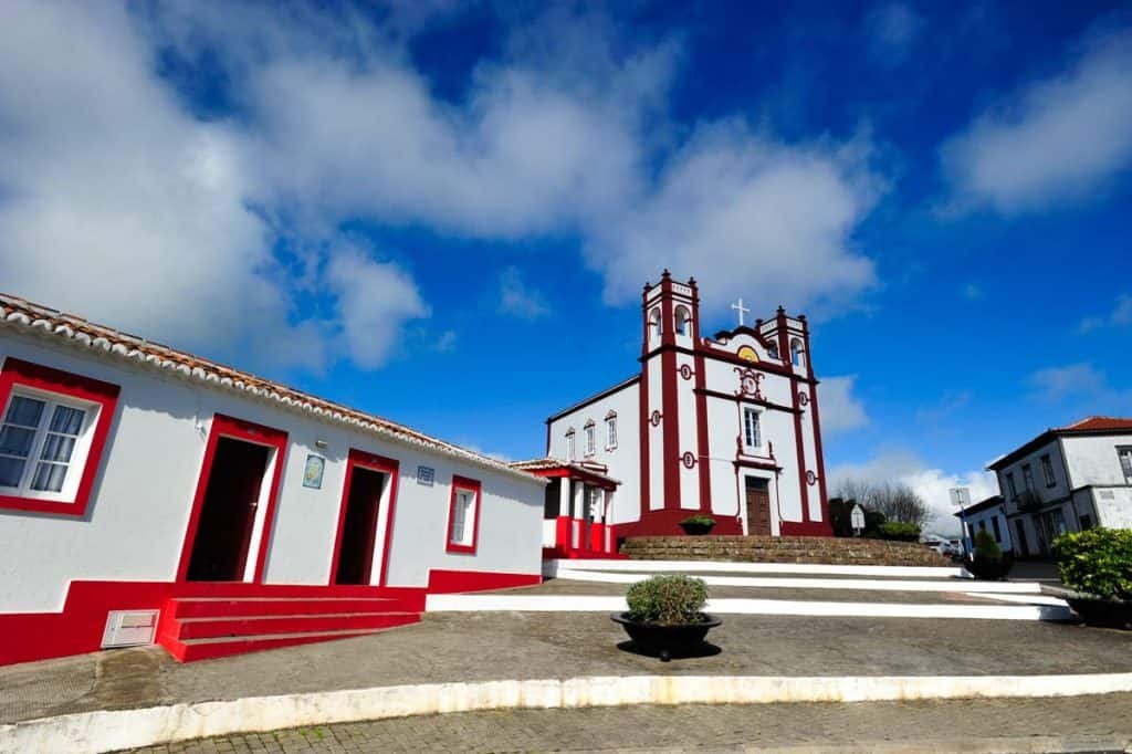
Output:
[[1090,417],[1048,429],[987,469],[1001,490],[995,515],[1009,521],[1019,555],[1044,555],[1070,531],[1132,528],[1132,419]]

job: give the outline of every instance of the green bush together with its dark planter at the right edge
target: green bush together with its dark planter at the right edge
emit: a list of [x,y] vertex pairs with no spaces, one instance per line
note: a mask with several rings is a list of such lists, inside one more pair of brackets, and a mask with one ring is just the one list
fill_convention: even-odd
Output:
[[1089,529],[1053,543],[1065,598],[1091,626],[1132,628],[1132,529]]

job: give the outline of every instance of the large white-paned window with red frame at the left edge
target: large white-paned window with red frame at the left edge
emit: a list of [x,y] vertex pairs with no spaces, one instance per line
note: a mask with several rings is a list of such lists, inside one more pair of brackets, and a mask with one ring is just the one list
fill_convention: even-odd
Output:
[[83,515],[117,385],[7,359],[0,370],[0,507]]

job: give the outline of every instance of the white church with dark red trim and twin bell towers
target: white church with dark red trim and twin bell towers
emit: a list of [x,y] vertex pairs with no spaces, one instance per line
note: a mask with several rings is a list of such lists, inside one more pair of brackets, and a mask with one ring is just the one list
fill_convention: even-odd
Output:
[[544,548],[616,552],[696,514],[715,534],[832,535],[806,317],[732,309],[703,336],[695,279],[645,284],[640,371],[547,419],[547,459],[516,464],[557,478]]

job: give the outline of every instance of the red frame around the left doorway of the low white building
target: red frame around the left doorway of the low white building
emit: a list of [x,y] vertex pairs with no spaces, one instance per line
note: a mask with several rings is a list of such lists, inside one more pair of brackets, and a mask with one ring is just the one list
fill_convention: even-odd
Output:
[[[200,512],[204,508],[205,494],[208,491],[208,478],[212,475],[213,461],[216,457],[216,444],[221,437],[265,445],[275,449],[275,470],[272,472],[271,489],[267,494],[267,509],[264,512],[264,526],[259,535],[259,548],[256,554],[256,569],[251,583],[261,584],[264,566],[267,562],[267,543],[272,538],[272,524],[275,521],[275,504],[278,502],[280,480],[283,478],[283,464],[286,462],[286,432],[272,427],[234,419],[222,413],[213,414],[212,428],[208,430],[208,442],[205,445],[205,457],[200,464],[200,475],[197,478],[197,491],[192,498],[192,513],[181,545],[181,559],[177,566],[177,581],[187,581],[189,562],[192,559],[192,545],[200,525]],[[252,522],[252,529],[255,522]],[[250,552],[248,554],[250,555]],[[242,579],[240,581],[243,581]]]

